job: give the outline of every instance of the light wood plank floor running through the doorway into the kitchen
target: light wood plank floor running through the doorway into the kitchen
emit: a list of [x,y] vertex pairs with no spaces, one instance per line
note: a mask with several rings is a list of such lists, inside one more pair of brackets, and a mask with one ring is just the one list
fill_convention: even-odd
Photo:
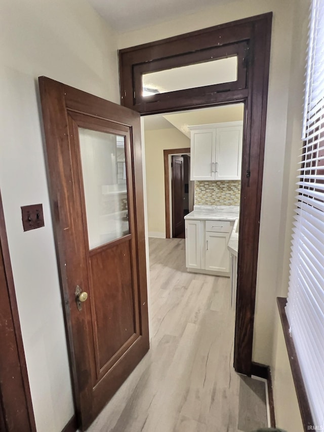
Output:
[[237,375],[229,279],[188,273],[183,239],[150,239],[151,345],[88,432],[250,432],[265,387]]

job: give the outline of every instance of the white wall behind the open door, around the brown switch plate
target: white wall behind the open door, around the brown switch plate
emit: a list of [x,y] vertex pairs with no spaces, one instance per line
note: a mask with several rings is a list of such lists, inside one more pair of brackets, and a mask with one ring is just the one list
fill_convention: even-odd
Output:
[[[0,51],[0,189],[20,324],[37,430],[57,432],[74,410],[37,77],[118,102],[115,35],[85,0],[2,0]],[[23,232],[20,207],[38,203],[45,227]]]

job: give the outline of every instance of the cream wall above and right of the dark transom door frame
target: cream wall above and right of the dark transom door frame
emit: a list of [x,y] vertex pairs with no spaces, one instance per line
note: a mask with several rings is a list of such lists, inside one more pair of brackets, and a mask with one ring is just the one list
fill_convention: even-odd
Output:
[[[293,44],[293,29],[299,31],[294,13],[305,14],[305,6],[300,8],[299,0],[238,0],[214,6],[200,13],[187,15],[168,25],[158,24],[142,30],[136,30],[118,36],[118,48],[126,48],[160,38],[233,21],[265,12],[273,12],[269,93],[267,107],[267,128],[264,156],[264,176],[262,190],[262,207],[260,219],[260,242],[258,258],[257,299],[255,311],[255,339],[253,360],[270,364],[274,367],[277,352],[277,334],[281,329],[274,325],[277,321],[276,295],[277,287],[287,286],[289,266],[289,239],[291,234],[292,188],[287,189],[287,180],[293,177],[290,157],[296,138],[291,129],[301,110],[300,97],[292,103],[295,88],[302,87],[301,73],[291,82],[294,74],[292,63],[292,46],[294,56],[304,59],[304,47]],[[307,2],[305,2],[307,3]],[[300,10],[299,10],[300,9]],[[307,14],[305,15],[307,16]],[[295,37],[295,33],[294,33]],[[299,71],[300,72],[300,71]],[[292,165],[294,166],[294,162]],[[289,223],[287,223],[289,218]],[[280,345],[280,349],[286,349]],[[274,355],[274,357],[273,357]],[[289,422],[295,419],[294,430],[302,430],[298,406],[294,397],[294,387],[288,363],[282,363],[281,373],[288,377],[285,394],[292,395],[289,410],[280,410],[279,421]],[[279,375],[277,375],[279,377]],[[274,386],[277,386],[277,376],[274,375]],[[279,384],[278,384],[279,385]],[[275,389],[275,406],[281,404],[283,393]],[[280,423],[278,423],[280,425]],[[293,430],[289,428],[289,430]]]

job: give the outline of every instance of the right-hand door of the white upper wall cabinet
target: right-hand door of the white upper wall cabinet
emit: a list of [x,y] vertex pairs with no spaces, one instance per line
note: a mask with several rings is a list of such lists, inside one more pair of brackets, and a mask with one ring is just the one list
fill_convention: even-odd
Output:
[[242,127],[218,128],[216,131],[216,180],[240,180]]

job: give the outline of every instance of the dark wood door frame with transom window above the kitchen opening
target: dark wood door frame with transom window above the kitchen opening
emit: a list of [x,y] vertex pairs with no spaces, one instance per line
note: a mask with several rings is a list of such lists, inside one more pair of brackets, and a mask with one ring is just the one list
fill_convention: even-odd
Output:
[[[119,51],[121,104],[142,115],[245,104],[234,368],[246,375],[252,372],[271,24],[272,13],[267,13]],[[235,83],[142,96],[142,73],[229,57],[233,53],[238,59]]]

